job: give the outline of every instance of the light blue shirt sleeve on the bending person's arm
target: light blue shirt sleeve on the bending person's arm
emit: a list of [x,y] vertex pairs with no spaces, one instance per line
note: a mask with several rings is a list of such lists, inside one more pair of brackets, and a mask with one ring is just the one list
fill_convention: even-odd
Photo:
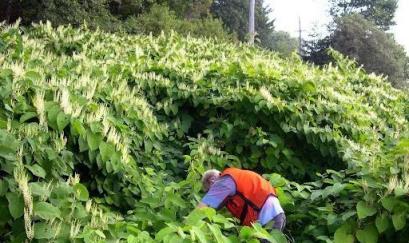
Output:
[[236,184],[230,176],[218,179],[202,199],[202,203],[212,208],[218,208],[228,196],[236,193]]

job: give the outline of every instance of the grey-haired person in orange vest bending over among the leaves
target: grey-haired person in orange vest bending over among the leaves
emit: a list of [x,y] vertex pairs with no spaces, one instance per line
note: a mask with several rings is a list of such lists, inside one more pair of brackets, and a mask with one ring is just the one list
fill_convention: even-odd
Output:
[[203,174],[202,185],[206,195],[198,208],[226,206],[241,225],[259,222],[267,230],[283,231],[286,217],[276,190],[259,174],[237,168],[212,169]]

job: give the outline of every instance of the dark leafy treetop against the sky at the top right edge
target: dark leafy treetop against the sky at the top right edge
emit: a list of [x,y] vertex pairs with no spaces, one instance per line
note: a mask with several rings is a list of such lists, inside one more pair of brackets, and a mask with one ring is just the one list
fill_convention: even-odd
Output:
[[359,13],[383,30],[388,30],[395,24],[393,17],[398,0],[330,0],[330,2],[330,14],[335,18]]

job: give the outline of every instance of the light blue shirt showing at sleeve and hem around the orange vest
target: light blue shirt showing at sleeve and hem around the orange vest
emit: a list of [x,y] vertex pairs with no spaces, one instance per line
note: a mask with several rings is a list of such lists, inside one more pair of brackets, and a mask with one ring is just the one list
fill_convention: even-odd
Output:
[[[233,196],[234,194],[236,194],[236,184],[233,178],[223,176],[217,179],[210,187],[209,191],[203,197],[202,203],[212,208],[218,208],[226,197]],[[258,221],[261,225],[265,225],[280,213],[284,213],[280,202],[276,197],[269,196],[261,208]]]

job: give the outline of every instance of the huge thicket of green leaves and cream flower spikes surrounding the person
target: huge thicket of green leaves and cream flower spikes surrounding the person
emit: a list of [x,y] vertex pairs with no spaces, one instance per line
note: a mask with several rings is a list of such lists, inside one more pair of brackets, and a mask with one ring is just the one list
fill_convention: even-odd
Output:
[[[341,55],[0,29],[0,241],[409,238],[409,97]],[[194,210],[201,173],[227,166],[277,187],[285,235]]]

